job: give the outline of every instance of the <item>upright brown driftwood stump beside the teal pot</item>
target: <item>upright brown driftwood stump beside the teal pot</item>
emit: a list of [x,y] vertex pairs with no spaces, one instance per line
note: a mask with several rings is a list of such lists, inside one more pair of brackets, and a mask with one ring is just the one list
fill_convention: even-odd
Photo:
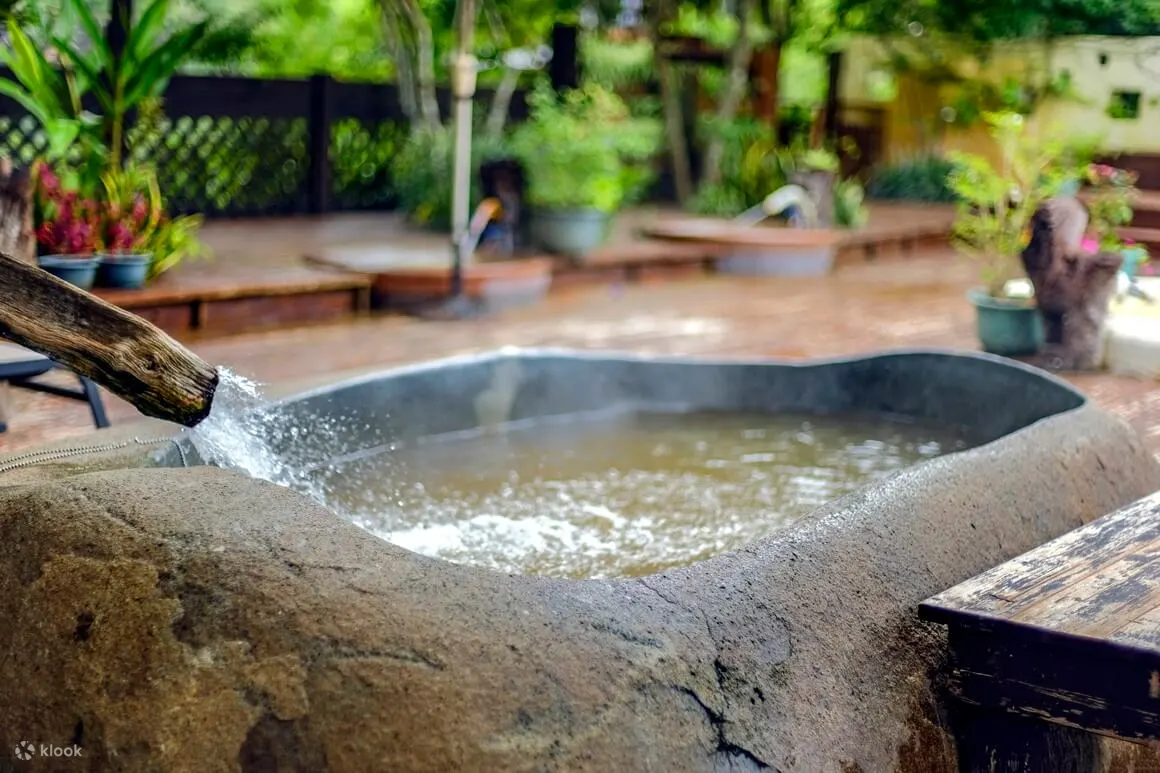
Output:
[[1031,218],[1031,239],[1023,251],[1023,268],[1046,328],[1046,346],[1036,364],[1052,370],[1103,364],[1103,326],[1124,258],[1083,252],[1087,225],[1087,208],[1079,200],[1051,198]]

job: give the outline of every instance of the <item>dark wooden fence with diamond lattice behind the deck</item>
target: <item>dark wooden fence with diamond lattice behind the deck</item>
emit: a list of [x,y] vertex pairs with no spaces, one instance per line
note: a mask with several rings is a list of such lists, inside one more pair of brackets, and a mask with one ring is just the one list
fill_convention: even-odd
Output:
[[[491,100],[480,89],[477,113]],[[450,95],[438,101],[450,115]],[[510,120],[525,116],[517,93]],[[391,209],[390,162],[406,132],[393,85],[181,75],[164,115],[130,137],[174,214],[237,217]],[[37,122],[0,96],[0,153],[28,162],[44,145]]]

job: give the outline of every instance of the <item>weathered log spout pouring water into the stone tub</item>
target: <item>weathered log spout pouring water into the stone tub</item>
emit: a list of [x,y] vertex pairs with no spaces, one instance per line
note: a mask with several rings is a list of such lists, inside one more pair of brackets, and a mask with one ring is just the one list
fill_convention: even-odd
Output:
[[148,322],[0,253],[0,335],[88,376],[145,416],[193,427],[217,369]]

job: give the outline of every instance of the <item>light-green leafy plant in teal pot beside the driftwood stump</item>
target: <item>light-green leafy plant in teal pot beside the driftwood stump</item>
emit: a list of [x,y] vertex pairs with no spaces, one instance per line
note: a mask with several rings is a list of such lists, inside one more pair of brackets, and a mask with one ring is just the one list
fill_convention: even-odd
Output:
[[1005,356],[1035,354],[1043,346],[1043,318],[1021,259],[1031,216],[1072,176],[1060,162],[1060,143],[1034,143],[1024,136],[1023,116],[987,114],[998,145],[998,164],[954,152],[947,182],[957,198],[952,243],[979,263],[983,286],[967,297],[976,308],[979,342]]

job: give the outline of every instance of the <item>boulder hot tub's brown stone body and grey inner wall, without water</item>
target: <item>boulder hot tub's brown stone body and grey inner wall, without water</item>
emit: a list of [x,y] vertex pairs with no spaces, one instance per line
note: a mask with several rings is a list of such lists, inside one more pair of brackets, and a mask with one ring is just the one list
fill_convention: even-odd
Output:
[[[807,434],[831,436],[821,445],[856,468],[863,451],[849,449],[890,445],[883,418],[923,428],[896,445],[926,451],[898,453],[897,471],[835,489],[768,536],[658,573],[583,580],[416,555],[285,487],[184,469],[172,446],[159,461],[21,470],[0,479],[0,679],[36,691],[0,703],[0,747],[26,736],[65,744],[82,725],[89,770],[951,773],[933,681],[944,638],[918,604],[1160,489],[1160,467],[1122,422],[1059,380],[976,354],[777,363],[501,352],[271,411],[283,427],[312,427],[269,433],[296,470],[289,482],[365,512],[382,490],[361,503],[326,479],[331,460],[398,446],[406,475],[450,470],[463,493],[507,465],[493,441],[524,442],[501,432],[513,424],[539,427],[522,458],[536,474],[557,460],[548,477],[574,494],[607,449],[568,429],[558,445],[582,451],[573,471],[566,454],[545,453],[557,446],[543,428],[610,411],[615,432],[636,439],[638,468],[658,443],[681,445],[680,426],[648,424],[658,412],[717,432],[706,456],[725,462],[774,453],[754,451],[747,443],[762,439],[747,433],[784,440],[811,422]],[[849,417],[875,426],[860,436]],[[831,419],[842,424],[827,435]],[[426,455],[440,443],[421,439],[455,433],[492,443],[494,458],[464,470],[450,446]],[[189,438],[179,443],[196,462]],[[694,442],[677,456],[709,476],[697,453]],[[763,463],[737,467],[777,472]]]

